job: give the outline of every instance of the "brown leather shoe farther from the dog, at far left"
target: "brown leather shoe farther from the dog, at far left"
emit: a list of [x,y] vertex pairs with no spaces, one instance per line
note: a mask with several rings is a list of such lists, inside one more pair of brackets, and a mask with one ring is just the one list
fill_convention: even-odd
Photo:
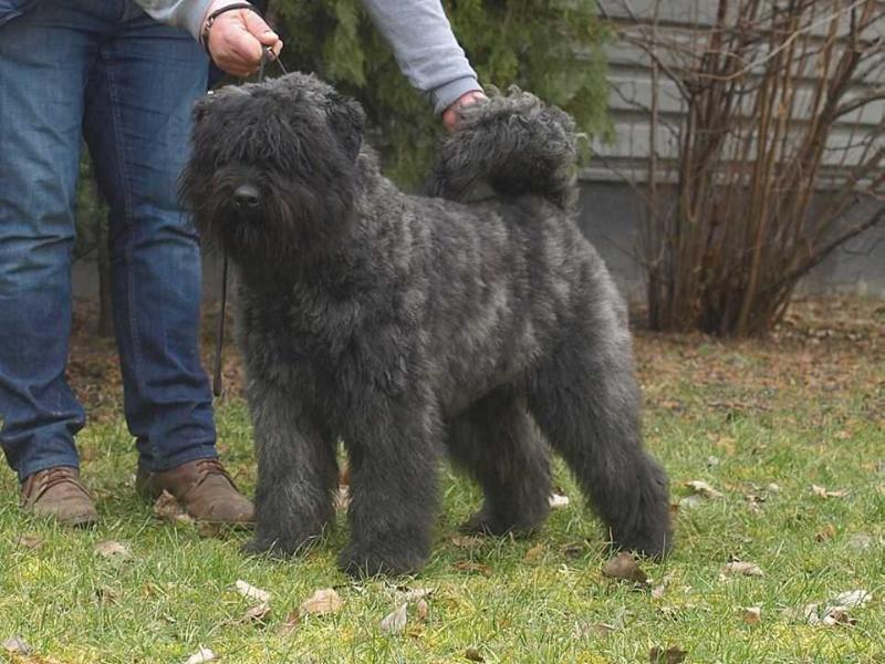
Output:
[[21,485],[21,508],[64,526],[88,528],[98,522],[98,512],[80,481],[80,473],[70,466],[55,466],[29,475]]

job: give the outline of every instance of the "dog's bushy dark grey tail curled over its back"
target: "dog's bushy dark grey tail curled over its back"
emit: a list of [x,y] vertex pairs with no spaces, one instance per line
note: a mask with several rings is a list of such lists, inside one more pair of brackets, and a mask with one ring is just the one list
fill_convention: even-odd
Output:
[[535,194],[570,209],[577,198],[574,122],[517,87],[507,95],[492,91],[462,111],[427,194],[461,201]]

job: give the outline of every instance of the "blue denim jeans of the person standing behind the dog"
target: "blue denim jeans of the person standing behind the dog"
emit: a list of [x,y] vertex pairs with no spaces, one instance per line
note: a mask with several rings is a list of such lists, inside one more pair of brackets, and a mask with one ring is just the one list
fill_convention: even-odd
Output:
[[114,329],[140,460],[216,456],[200,253],[177,204],[207,59],[133,0],[38,0],[0,25],[0,444],[19,479],[77,467],[65,377],[85,137],[107,199]]

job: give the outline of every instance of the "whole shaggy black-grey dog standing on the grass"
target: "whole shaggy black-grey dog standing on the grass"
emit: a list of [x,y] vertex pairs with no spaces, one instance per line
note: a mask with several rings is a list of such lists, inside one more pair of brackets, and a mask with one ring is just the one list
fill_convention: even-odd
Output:
[[437,197],[382,177],[361,107],[313,76],[222,90],[195,118],[183,197],[239,278],[249,550],[291,553],[321,533],[339,438],[352,573],[424,564],[445,447],[485,489],[468,529],[530,531],[550,495],[534,422],[617,547],[666,552],[667,483],[639,443],[625,308],[571,215],[565,114],[519,92],[467,110]]

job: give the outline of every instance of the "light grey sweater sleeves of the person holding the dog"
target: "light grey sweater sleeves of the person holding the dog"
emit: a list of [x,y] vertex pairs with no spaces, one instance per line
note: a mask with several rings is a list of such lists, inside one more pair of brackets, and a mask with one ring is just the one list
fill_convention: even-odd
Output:
[[[233,0],[231,0],[232,2]],[[164,23],[199,39],[211,0],[137,0]],[[439,0],[363,0],[412,85],[430,96],[437,113],[466,92],[481,90]]]

